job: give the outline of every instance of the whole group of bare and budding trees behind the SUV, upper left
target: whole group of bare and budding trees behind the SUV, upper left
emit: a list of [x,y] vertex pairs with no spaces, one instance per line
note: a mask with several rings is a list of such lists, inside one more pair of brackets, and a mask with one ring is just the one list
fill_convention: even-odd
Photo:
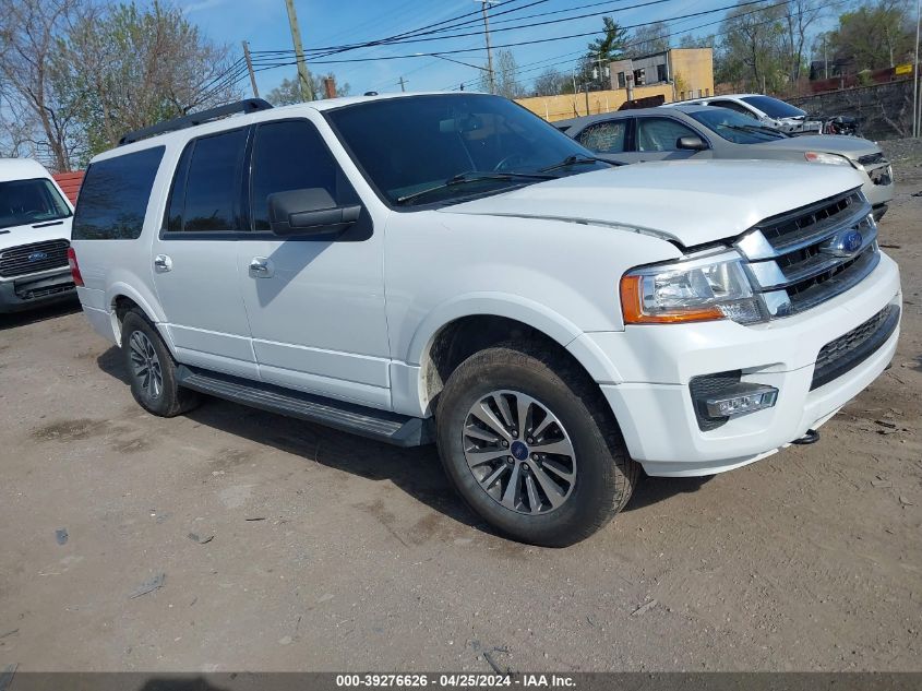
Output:
[[[242,98],[238,63],[160,0],[0,0],[0,156],[81,168],[129,131]],[[267,97],[295,103],[297,86]]]

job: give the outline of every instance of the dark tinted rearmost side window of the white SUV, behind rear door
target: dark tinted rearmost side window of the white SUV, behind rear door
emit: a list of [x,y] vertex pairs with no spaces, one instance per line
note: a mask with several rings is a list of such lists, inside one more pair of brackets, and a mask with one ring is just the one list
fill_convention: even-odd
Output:
[[140,237],[163,157],[164,147],[155,146],[92,164],[77,199],[73,239]]

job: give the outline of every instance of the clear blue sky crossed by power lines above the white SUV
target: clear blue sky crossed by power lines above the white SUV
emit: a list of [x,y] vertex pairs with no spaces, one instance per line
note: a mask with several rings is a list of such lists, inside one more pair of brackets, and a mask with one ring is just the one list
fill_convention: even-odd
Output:
[[[675,16],[706,12],[726,7],[733,1],[660,0],[648,7],[630,9],[633,5],[649,3],[649,0],[610,0],[609,2],[600,2],[599,0],[541,0],[540,2],[513,0],[504,7],[496,7],[491,10],[491,16],[498,15],[491,21],[494,56],[495,46],[502,44],[598,31],[602,24],[602,15],[560,21],[547,26],[498,31],[520,23],[552,19],[565,20],[578,14],[604,12],[614,16],[622,25],[632,25],[658,20],[669,21]],[[214,40],[228,44],[235,55],[242,53],[240,41],[243,39],[250,41],[250,48],[253,51],[291,49],[291,35],[288,28],[285,0],[178,0],[178,4],[205,34]],[[534,7],[524,7],[529,4]],[[596,7],[585,8],[589,4]],[[311,48],[339,46],[346,43],[360,43],[392,36],[462,14],[478,12],[480,3],[477,0],[436,0],[429,2],[426,0],[296,0],[295,7],[301,25],[304,49],[310,50]],[[500,12],[516,7],[523,7],[523,9],[499,16]],[[556,11],[563,12],[544,17],[516,19]],[[471,15],[467,19],[474,20],[476,16]],[[672,32],[688,33],[688,29],[719,21],[722,16],[723,12],[721,11],[696,17],[674,20],[669,25]],[[446,33],[468,33],[479,29],[482,29],[482,23]],[[719,29],[719,26],[714,25],[691,31],[691,33],[703,35],[717,29]],[[586,36],[511,48],[522,70],[520,80],[530,84],[530,81],[540,74],[547,65],[553,65],[561,71],[568,71],[576,61],[579,51],[585,50],[586,44],[591,39],[591,36]],[[678,37],[673,41],[678,43]],[[382,93],[399,91],[398,80],[400,76],[407,80],[408,91],[457,88],[462,82],[467,83],[467,88],[476,88],[475,85],[480,74],[476,69],[431,56],[387,59],[391,56],[412,56],[417,52],[432,53],[464,49],[475,50],[448,55],[447,57],[472,64],[484,64],[486,48],[482,33],[475,36],[363,48],[326,58],[326,60],[370,58],[371,60],[367,62],[324,64],[321,59],[314,59],[309,60],[308,64],[314,73],[333,71],[339,83],[350,85],[352,94],[361,94],[366,91]],[[284,78],[294,74],[294,65],[264,70],[258,74],[258,85],[265,93],[277,86]],[[249,81],[246,76],[240,85],[249,95]]]

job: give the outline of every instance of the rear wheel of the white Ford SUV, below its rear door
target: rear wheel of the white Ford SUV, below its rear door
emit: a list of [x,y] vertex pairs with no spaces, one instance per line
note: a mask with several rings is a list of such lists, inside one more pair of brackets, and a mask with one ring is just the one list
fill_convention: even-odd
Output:
[[195,393],[176,383],[176,360],[139,309],[122,320],[122,356],[131,393],[148,413],[176,417],[197,405]]

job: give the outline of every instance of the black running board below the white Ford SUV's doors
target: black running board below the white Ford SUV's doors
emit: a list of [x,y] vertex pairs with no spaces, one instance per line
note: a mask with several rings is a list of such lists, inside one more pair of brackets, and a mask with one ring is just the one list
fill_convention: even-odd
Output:
[[177,367],[176,377],[180,386],[192,391],[397,446],[419,446],[434,440],[431,418],[407,417],[185,365]]

